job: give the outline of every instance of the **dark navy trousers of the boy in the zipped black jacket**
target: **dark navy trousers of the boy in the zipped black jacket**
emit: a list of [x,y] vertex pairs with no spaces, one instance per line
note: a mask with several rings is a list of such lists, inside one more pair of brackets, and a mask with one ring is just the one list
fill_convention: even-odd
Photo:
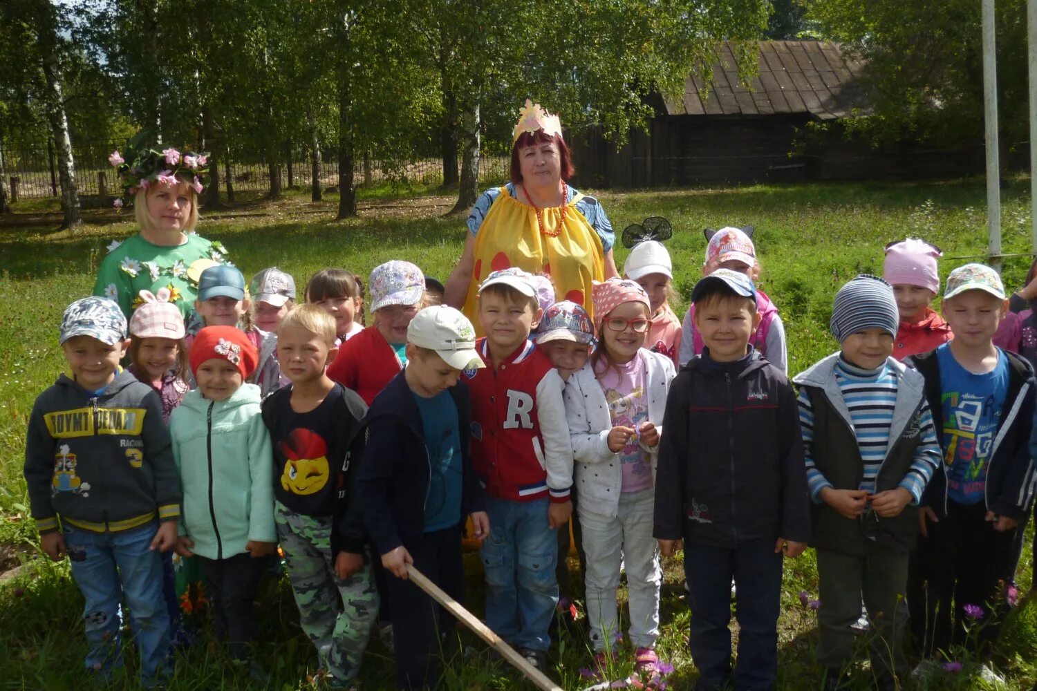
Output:
[[782,555],[773,546],[725,549],[684,543],[697,689],[724,687],[731,676],[731,578],[738,620],[738,664],[734,688],[775,688],[778,679],[778,614]]

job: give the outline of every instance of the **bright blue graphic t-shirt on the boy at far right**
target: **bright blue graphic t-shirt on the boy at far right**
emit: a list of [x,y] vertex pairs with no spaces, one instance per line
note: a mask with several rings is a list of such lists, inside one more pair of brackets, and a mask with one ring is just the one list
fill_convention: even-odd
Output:
[[984,497],[993,437],[1008,396],[1008,361],[1000,350],[998,354],[991,371],[973,374],[954,359],[949,344],[936,348],[944,408],[940,445],[947,496],[958,503],[979,503]]

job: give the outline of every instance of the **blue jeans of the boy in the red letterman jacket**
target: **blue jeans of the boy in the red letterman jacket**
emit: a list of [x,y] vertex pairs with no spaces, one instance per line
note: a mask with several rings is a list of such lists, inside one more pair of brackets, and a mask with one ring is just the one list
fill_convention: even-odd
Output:
[[486,625],[515,647],[546,651],[558,605],[558,536],[548,527],[546,497],[486,497],[489,537],[479,555],[486,573]]

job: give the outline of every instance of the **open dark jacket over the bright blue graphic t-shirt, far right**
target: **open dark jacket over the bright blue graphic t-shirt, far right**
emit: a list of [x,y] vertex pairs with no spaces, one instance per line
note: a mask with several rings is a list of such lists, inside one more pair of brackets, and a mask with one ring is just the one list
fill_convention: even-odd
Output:
[[[1034,420],[1034,372],[1026,358],[1007,350],[1008,394],[986,470],[986,509],[998,516],[1017,521],[1026,520],[1034,499],[1034,459],[1030,451]],[[940,388],[940,358],[935,350],[914,355],[904,361],[925,377],[925,396],[932,410],[936,434],[944,429],[944,406]],[[941,445],[943,440],[941,439]],[[946,450],[945,450],[946,453]],[[947,469],[940,470],[925,490],[922,503],[943,517],[947,512]]]

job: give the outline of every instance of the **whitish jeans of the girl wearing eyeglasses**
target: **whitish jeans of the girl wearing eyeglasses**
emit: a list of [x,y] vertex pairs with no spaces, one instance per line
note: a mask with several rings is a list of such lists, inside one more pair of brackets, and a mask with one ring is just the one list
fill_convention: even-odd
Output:
[[589,508],[580,511],[587,553],[587,620],[595,651],[612,650],[622,633],[616,606],[620,562],[626,565],[630,644],[635,649],[655,646],[663,572],[658,543],[651,535],[654,495],[652,489],[620,494],[619,513],[613,518]]

